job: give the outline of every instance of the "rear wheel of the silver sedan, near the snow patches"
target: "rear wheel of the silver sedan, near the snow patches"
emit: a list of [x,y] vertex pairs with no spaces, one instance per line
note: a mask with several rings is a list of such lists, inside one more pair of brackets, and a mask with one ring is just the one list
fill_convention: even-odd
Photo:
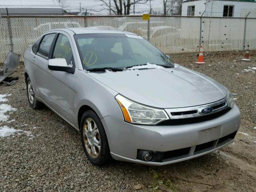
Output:
[[27,78],[26,81],[26,91],[27,91],[27,97],[28,97],[28,104],[33,109],[39,109],[42,107],[42,103],[36,100],[34,90],[32,87],[32,83],[30,80],[30,77]]

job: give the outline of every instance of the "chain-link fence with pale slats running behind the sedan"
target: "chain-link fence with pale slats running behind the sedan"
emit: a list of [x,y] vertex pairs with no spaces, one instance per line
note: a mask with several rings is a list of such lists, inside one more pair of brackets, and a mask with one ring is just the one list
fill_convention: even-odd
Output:
[[8,52],[21,54],[40,35],[55,28],[117,28],[148,38],[166,54],[256,49],[256,18],[210,18],[181,16],[40,16],[0,18],[0,62]]

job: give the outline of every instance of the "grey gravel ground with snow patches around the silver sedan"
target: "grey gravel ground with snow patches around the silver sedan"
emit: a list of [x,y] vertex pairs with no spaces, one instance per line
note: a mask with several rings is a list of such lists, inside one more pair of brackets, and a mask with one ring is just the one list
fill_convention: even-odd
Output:
[[202,72],[236,93],[242,120],[233,144],[163,167],[118,161],[102,168],[90,164],[78,132],[50,109],[28,106],[21,66],[12,75],[20,78],[15,85],[0,84],[0,94],[12,94],[0,104],[17,109],[9,114],[8,121],[12,121],[0,122],[0,127],[23,130],[0,137],[0,192],[256,192],[256,73],[244,71],[256,67],[256,52],[250,54],[252,62],[240,61],[243,52],[206,53],[205,65],[194,64],[197,54],[172,56],[176,63]]

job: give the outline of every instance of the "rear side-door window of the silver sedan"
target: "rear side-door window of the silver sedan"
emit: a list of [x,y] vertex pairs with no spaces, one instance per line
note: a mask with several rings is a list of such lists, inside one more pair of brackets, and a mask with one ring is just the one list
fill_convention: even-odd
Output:
[[49,58],[50,48],[52,46],[52,42],[54,40],[55,33],[45,35],[40,43],[38,54],[44,56],[45,58]]

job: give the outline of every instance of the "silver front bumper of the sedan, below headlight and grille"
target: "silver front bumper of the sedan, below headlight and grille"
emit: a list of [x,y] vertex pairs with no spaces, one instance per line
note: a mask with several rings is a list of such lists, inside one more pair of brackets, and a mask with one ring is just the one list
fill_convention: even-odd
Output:
[[[130,124],[114,116],[102,118],[102,124],[108,137],[110,153],[114,159],[161,166],[201,156],[231,143],[233,139],[225,136],[235,134],[239,129],[240,112],[235,105],[232,110],[218,118],[184,125]],[[218,142],[219,138],[225,138],[225,140]],[[198,145],[202,147],[210,142],[212,142],[211,146],[195,151]],[[170,152],[185,148],[189,148],[188,154],[166,158],[162,162],[137,159],[139,149]]]

